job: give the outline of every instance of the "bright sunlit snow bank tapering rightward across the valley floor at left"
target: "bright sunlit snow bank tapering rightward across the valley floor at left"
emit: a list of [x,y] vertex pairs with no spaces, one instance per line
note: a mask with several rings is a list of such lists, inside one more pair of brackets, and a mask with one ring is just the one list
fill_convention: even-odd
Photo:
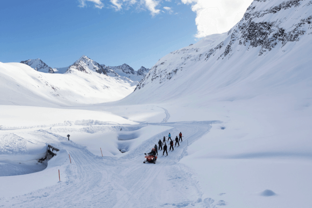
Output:
[[137,124],[108,112],[0,106],[0,130],[48,126]]

